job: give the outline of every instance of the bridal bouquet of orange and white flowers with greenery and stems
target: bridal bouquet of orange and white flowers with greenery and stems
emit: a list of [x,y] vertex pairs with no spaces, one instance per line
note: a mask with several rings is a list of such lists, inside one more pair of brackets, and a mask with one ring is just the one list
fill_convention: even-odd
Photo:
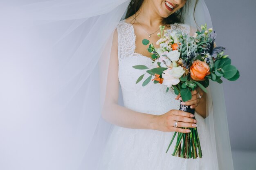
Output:
[[[176,95],[181,95],[183,101],[189,101],[192,97],[191,91],[196,87],[200,87],[207,93],[206,87],[209,85],[209,80],[222,83],[222,77],[229,81],[236,81],[239,78],[240,74],[236,67],[231,65],[228,55],[223,55],[225,48],[216,47],[215,31],[211,28],[207,29],[207,25],[202,25],[201,31],[195,32],[193,36],[184,34],[182,31],[167,32],[164,31],[164,26],[160,26],[157,36],[159,40],[156,44],[159,48],[155,48],[152,43],[148,47],[155,68],[149,69],[145,65],[132,66],[135,69],[147,69],[146,72],[150,74],[142,86],[147,85],[151,80],[153,83],[166,85],[166,92],[172,88]],[[142,43],[148,45],[149,40],[144,39]],[[136,84],[144,78],[145,74],[139,76]],[[151,79],[152,76],[155,77]],[[195,113],[195,109],[182,104],[180,110]],[[185,129],[190,129],[191,132],[178,133],[172,155],[182,158],[201,158],[202,150],[197,128]]]

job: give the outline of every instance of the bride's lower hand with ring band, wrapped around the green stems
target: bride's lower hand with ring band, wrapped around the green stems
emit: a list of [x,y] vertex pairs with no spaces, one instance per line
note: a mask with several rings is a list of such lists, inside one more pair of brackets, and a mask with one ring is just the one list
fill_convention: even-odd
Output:
[[[189,112],[181,110],[170,110],[162,115],[156,115],[155,127],[153,129],[160,130],[162,132],[182,132],[189,133],[189,129],[182,128],[195,128],[197,120],[193,119],[194,115]],[[177,122],[177,128],[174,127],[175,121]],[[181,128],[182,127],[182,128]]]

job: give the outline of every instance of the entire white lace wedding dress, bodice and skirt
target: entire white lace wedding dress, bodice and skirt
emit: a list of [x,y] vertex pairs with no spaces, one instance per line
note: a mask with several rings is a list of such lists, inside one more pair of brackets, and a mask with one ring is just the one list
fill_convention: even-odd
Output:
[[[168,31],[181,29],[189,34],[190,27],[185,24],[173,24]],[[180,101],[172,89],[166,93],[166,86],[159,83],[148,83],[145,87],[142,82],[149,76],[145,74],[142,81],[135,83],[145,70],[134,69],[134,65],[155,67],[152,60],[135,52],[135,34],[133,26],[125,20],[117,25],[118,31],[118,59],[119,82],[123,94],[124,106],[148,114],[160,115],[169,110],[179,110]],[[152,78],[153,79],[153,76]],[[100,170],[211,170],[215,162],[211,161],[211,149],[207,139],[204,118],[195,112],[198,120],[197,128],[202,148],[202,158],[182,159],[171,154],[177,140],[177,135],[168,150],[168,145],[174,132],[158,130],[131,129],[115,125],[108,138],[105,150],[100,161]],[[215,160],[215,159],[213,159]]]

